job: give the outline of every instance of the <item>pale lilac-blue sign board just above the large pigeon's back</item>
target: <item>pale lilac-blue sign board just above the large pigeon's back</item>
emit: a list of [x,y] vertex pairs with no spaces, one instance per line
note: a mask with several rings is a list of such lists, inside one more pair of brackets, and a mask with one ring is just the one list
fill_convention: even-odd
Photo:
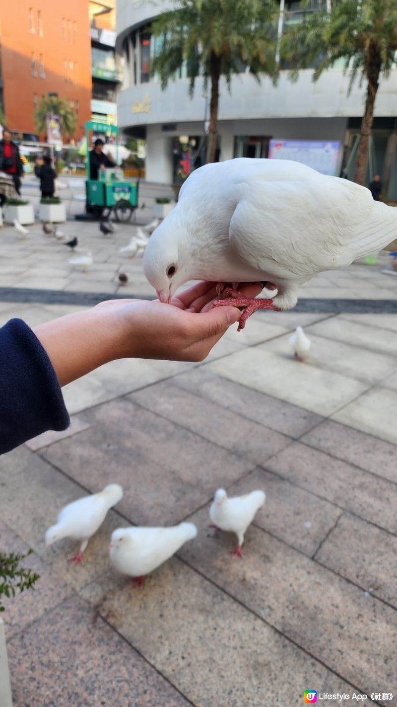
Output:
[[336,176],[340,142],[321,140],[271,140],[269,159],[294,160],[323,175]]

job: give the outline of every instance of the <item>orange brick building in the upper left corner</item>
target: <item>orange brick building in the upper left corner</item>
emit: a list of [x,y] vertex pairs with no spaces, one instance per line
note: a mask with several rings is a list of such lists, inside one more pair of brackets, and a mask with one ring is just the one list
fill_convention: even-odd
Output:
[[[0,1],[1,83],[9,129],[36,134],[33,112],[47,93],[90,119],[91,47],[87,0]],[[1,86],[1,84],[0,84]]]

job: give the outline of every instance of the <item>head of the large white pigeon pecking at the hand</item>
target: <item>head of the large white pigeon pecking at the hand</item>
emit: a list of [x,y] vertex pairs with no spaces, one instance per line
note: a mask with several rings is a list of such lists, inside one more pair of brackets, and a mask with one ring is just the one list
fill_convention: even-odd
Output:
[[143,271],[160,302],[170,303],[175,290],[193,279],[189,250],[180,233],[177,223],[165,218],[150,236],[143,255]]

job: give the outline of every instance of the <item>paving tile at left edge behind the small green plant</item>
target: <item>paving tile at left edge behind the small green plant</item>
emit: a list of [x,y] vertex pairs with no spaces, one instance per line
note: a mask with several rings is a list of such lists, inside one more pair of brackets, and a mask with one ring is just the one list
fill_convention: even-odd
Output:
[[[30,546],[22,542],[18,535],[0,520],[0,548],[7,554],[10,552],[26,554]],[[70,587],[50,571],[39,556],[35,554],[28,556],[22,561],[22,566],[37,573],[39,579],[35,583],[34,590],[24,590],[22,593],[16,590],[16,596],[11,599],[2,595],[1,603],[5,609],[2,618],[6,620],[7,641],[17,633],[25,631],[32,622],[45,616],[50,609],[63,602],[72,592]]]

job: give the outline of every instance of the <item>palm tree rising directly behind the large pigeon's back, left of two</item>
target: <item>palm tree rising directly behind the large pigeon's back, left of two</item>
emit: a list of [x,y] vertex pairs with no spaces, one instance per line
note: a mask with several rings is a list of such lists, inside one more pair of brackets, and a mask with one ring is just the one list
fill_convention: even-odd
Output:
[[218,141],[219,82],[225,75],[231,88],[232,74],[242,66],[259,81],[259,74],[277,77],[275,0],[178,0],[175,9],[162,13],[152,26],[155,57],[152,75],[158,74],[162,89],[186,62],[189,94],[203,76],[204,90],[211,81],[210,146],[208,161],[215,160]]

